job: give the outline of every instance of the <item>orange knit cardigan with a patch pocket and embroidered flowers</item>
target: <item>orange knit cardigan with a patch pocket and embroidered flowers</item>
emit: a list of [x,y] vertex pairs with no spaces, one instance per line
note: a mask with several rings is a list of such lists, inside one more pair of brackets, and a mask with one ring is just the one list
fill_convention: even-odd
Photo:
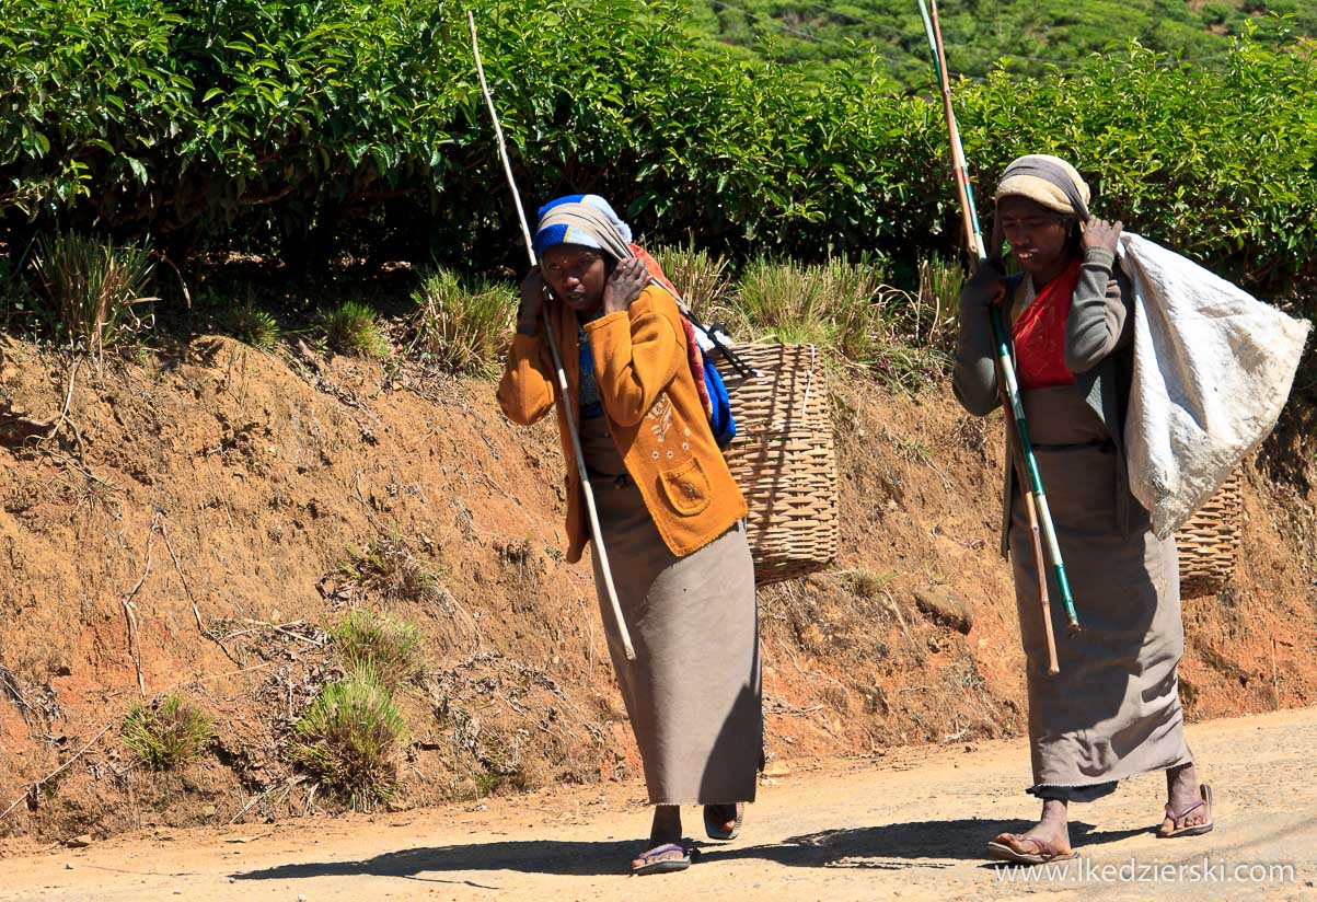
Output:
[[[547,305],[574,416],[579,416],[579,345],[576,313]],[[685,557],[745,516],[745,499],[709,428],[686,357],[681,313],[672,296],[651,284],[627,311],[586,324],[595,379],[612,435],[669,550]],[[520,425],[539,421],[557,403],[558,437],[566,461],[568,561],[581,560],[590,539],[581,475],[553,359],[541,334],[512,340],[498,402]],[[607,544],[607,536],[605,536]]]

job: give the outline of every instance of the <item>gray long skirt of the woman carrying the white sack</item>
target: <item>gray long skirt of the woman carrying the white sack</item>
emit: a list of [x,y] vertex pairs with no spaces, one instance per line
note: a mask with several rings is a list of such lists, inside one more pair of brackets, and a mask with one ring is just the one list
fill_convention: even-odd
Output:
[[1048,577],[1060,673],[1047,676],[1033,539],[1017,492],[1010,557],[1027,658],[1035,783],[1029,791],[1083,802],[1125,777],[1192,761],[1176,677],[1184,653],[1179,562],[1173,537],[1159,540],[1147,529],[1121,535],[1110,448],[1085,444],[1036,456],[1081,631],[1065,628],[1060,591]]

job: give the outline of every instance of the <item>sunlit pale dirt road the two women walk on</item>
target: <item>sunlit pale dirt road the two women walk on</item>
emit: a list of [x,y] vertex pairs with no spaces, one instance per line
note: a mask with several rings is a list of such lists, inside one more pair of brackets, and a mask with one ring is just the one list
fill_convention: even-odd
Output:
[[[624,874],[648,810],[640,786],[622,783],[395,815],[155,830],[0,861],[0,901],[835,901],[1015,898],[1039,889],[1317,899],[1317,708],[1198,724],[1189,741],[1216,787],[1216,831],[1155,839],[1163,783],[1129,781],[1076,810],[1072,839],[1083,857],[1065,873],[997,869],[980,857],[988,837],[1025,828],[1035,812],[1021,793],[1025,747],[1001,741],[777,772],[765,777],[741,839],[703,843],[695,866],[666,877]],[[686,814],[687,835],[702,832],[697,814]]]

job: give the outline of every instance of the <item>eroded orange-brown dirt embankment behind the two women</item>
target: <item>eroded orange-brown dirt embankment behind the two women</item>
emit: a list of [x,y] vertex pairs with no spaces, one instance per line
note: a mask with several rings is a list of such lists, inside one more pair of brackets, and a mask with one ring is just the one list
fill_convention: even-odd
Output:
[[[556,436],[507,424],[489,383],[199,338],[82,366],[79,453],[16,419],[58,417],[67,362],[9,338],[0,356],[0,810],[115,724],[0,836],[333,809],[282,744],[335,677],[324,628],[357,606],[425,636],[396,805],[636,773],[589,569],[560,560]],[[839,565],[760,597],[770,762],[1021,733],[1000,420],[944,390],[834,400]],[[1185,602],[1193,719],[1317,701],[1300,442],[1249,469],[1234,585]],[[391,585],[344,571],[366,549],[406,565]],[[133,765],[117,723],[144,690],[216,719],[200,762]]]

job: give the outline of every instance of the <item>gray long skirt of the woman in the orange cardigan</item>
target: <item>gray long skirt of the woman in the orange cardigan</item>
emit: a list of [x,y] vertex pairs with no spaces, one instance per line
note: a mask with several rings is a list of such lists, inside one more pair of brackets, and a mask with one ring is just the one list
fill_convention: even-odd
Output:
[[744,524],[678,558],[635,485],[599,479],[595,502],[635,661],[591,554],[595,589],[651,805],[753,802],[764,720]]

